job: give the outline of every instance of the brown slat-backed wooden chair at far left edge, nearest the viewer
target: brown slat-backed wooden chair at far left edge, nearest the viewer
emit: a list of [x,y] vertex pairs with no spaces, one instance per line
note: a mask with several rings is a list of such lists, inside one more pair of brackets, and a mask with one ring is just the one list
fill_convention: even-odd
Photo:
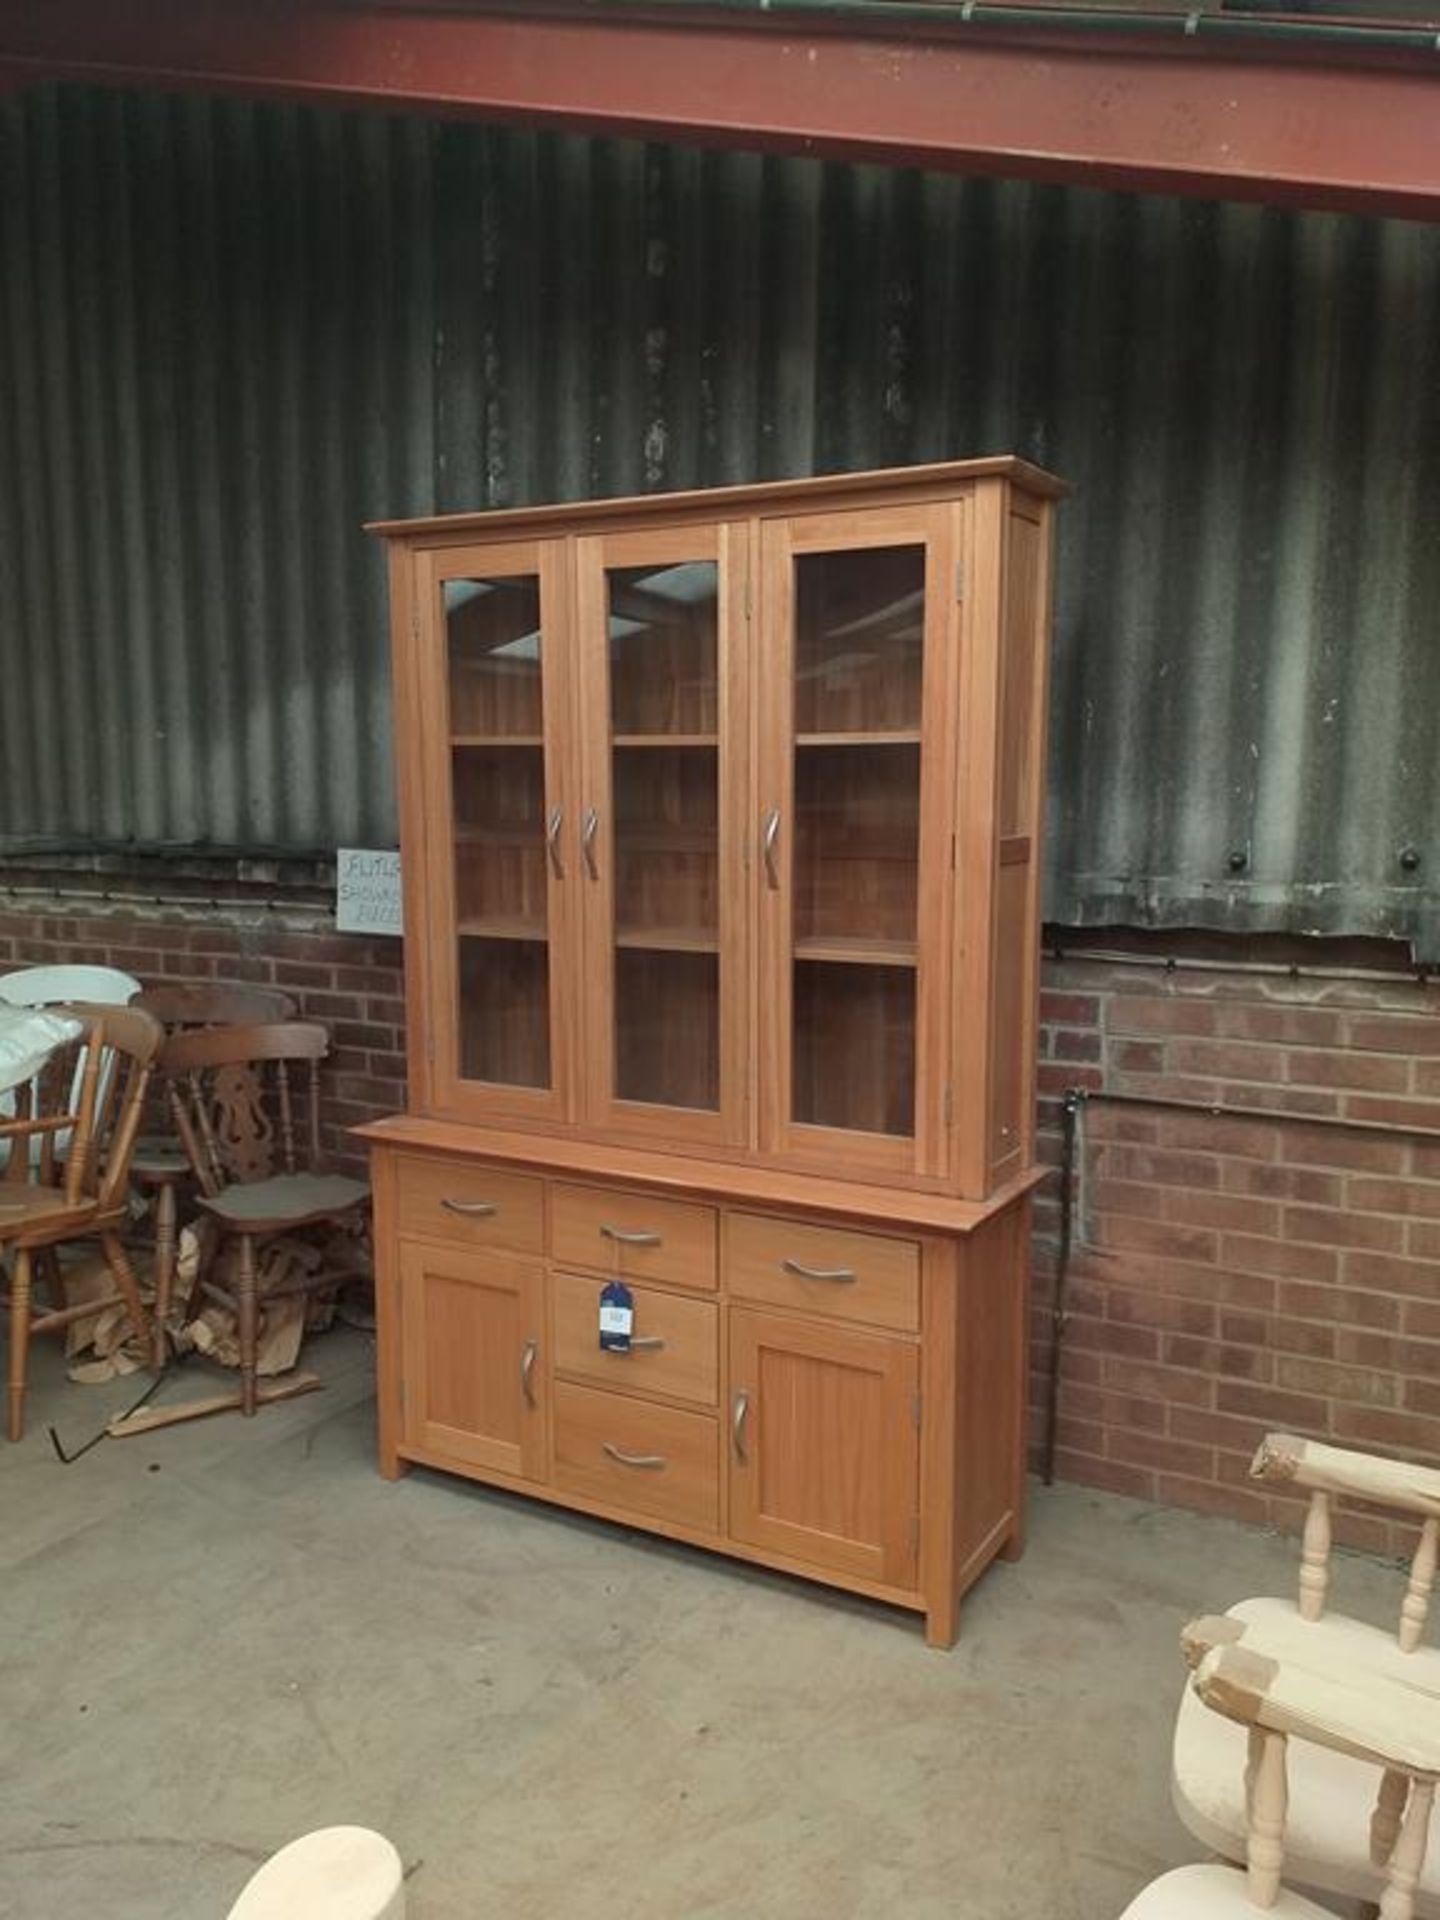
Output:
[[[150,1014],[132,1008],[75,1006],[67,1012],[79,1018],[81,1037],[58,1048],[40,1075],[36,1112],[0,1119],[0,1140],[38,1148],[38,1156],[15,1156],[25,1164],[27,1179],[0,1183],[0,1254],[12,1261],[10,1288],[0,1294],[0,1304],[10,1311],[6,1430],[12,1440],[19,1440],[25,1430],[25,1375],[33,1332],[69,1327],[111,1300],[123,1300],[136,1338],[148,1340],[140,1292],[121,1236],[131,1154],[161,1029]],[[58,1140],[63,1140],[63,1164],[56,1152]],[[115,1281],[115,1292],[108,1300],[79,1308],[65,1304],[58,1250],[71,1240],[100,1240]],[[42,1313],[36,1313],[33,1302],[36,1260],[46,1260],[46,1284],[56,1296],[50,1311]]]

